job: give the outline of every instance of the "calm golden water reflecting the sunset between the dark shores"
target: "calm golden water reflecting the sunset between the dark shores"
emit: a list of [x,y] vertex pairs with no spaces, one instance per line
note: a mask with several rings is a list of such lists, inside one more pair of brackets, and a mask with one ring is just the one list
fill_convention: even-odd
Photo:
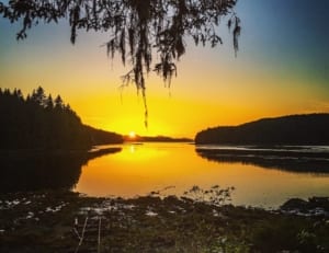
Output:
[[[328,147],[320,150],[329,152]],[[206,189],[218,184],[236,187],[234,204],[277,207],[292,197],[329,196],[328,164],[327,158],[308,161],[286,159],[286,154],[265,160],[252,154],[207,157],[189,143],[123,145],[121,152],[82,165],[75,191],[90,196],[132,197],[172,186],[163,194],[181,195],[193,185]],[[296,172],[299,168],[303,170]],[[317,172],[310,172],[314,170]]]

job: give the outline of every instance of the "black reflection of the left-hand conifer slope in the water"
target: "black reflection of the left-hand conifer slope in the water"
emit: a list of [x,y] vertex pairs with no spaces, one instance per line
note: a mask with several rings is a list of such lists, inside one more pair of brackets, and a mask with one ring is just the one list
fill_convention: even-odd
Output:
[[118,151],[1,154],[0,192],[71,189],[89,160]]

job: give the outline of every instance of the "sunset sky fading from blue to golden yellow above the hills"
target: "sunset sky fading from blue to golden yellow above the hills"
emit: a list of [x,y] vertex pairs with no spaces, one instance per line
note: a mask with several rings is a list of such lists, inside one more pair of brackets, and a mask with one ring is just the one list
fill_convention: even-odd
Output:
[[83,123],[121,134],[194,137],[260,117],[329,113],[328,10],[328,0],[239,0],[237,57],[225,24],[223,46],[195,47],[186,39],[171,88],[156,74],[147,79],[147,129],[136,88],[120,90],[128,68],[101,47],[109,35],[80,32],[72,46],[65,21],[33,27],[16,42],[20,25],[0,19],[0,87],[26,95],[42,85]]

